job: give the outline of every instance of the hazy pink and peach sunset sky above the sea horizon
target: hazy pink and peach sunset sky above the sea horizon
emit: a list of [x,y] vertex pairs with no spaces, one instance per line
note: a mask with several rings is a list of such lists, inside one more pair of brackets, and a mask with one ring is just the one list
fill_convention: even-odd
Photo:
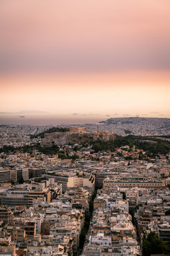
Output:
[[170,117],[169,0],[3,0],[0,31],[0,112]]

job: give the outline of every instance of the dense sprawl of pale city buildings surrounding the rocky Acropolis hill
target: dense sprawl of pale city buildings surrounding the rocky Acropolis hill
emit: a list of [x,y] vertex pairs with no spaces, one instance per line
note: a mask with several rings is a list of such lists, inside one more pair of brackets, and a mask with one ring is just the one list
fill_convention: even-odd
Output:
[[3,255],[169,253],[169,119],[116,121],[1,125]]

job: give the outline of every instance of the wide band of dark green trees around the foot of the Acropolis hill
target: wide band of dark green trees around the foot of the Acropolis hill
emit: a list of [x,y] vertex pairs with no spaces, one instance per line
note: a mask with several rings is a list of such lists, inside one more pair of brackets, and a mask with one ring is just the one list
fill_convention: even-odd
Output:
[[[57,128],[61,129],[61,128]],[[64,129],[64,128],[63,128]],[[103,139],[88,139],[87,142],[82,143],[81,146],[79,145],[79,148],[77,146],[73,146],[73,149],[75,151],[81,149],[81,147],[86,146],[92,146],[92,149],[97,153],[99,151],[111,151],[115,152],[116,149],[119,149],[123,146],[129,146],[129,149],[127,149],[129,152],[132,151],[133,147],[135,146],[135,149],[140,149],[145,151],[145,156],[142,154],[142,151],[140,151],[139,159],[145,159],[148,158],[155,158],[159,155],[166,155],[169,154],[170,151],[170,142],[168,140],[162,140],[159,137],[141,137],[141,136],[135,136],[135,135],[128,135],[125,137],[122,136],[115,136],[115,140],[111,141],[104,141]],[[28,146],[6,146],[4,145],[0,149],[0,153],[4,152],[6,154],[16,151],[23,151],[23,153],[30,153],[33,154],[34,150],[38,150],[42,154],[52,155],[59,153],[59,157],[61,159],[77,159],[78,156],[74,154],[74,156],[69,156],[69,154],[63,154],[60,152],[60,147],[57,145],[52,146],[42,146],[40,143],[28,145]],[[124,150],[124,149],[123,149]],[[122,156],[121,152],[118,152],[118,156]],[[132,156],[126,156],[126,160],[132,160]]]

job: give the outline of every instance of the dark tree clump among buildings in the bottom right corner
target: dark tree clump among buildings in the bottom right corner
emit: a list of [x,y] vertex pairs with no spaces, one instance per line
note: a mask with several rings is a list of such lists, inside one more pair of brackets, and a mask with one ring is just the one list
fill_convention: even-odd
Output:
[[150,256],[152,254],[166,254],[168,247],[166,243],[159,239],[155,232],[150,232],[147,237],[144,236],[142,244],[142,256]]

